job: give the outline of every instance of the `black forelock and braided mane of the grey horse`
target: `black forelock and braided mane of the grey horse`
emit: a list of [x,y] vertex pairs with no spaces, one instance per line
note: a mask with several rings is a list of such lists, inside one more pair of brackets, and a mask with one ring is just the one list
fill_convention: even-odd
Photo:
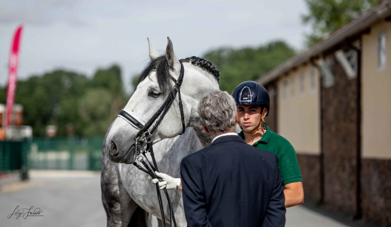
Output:
[[[209,73],[211,73],[217,82],[219,82],[219,70],[215,65],[210,63],[209,61],[206,61],[205,59],[199,58],[199,57],[188,57],[185,59],[181,59],[181,62],[188,62],[195,66],[198,66]],[[137,88],[138,84],[142,82],[147,76],[151,73],[152,70],[156,70],[156,77],[158,79],[159,88],[162,93],[169,93],[172,89],[171,85],[171,75],[170,75],[170,68],[169,64],[167,62],[166,56],[161,55],[157,57],[156,59],[151,60],[147,66],[143,69],[143,71],[140,74],[140,77],[138,77],[138,80],[136,82]],[[186,72],[185,72],[186,73]]]

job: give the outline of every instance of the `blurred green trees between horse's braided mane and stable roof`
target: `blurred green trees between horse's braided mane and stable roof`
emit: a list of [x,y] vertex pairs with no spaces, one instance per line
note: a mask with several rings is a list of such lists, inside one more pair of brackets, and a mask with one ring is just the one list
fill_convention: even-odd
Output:
[[257,48],[219,48],[203,57],[218,66],[220,89],[231,93],[241,82],[258,79],[294,54],[284,41],[273,41]]

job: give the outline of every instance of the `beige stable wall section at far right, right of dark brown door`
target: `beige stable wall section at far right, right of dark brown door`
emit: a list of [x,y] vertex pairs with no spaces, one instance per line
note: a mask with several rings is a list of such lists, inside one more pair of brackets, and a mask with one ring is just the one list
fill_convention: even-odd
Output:
[[[386,32],[386,67],[378,70],[378,36]],[[391,158],[391,22],[362,36],[362,157]]]

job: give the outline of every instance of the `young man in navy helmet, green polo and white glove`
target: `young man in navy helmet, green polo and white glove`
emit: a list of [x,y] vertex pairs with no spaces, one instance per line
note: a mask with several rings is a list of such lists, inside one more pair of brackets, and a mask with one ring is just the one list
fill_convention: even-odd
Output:
[[[285,186],[285,207],[302,204],[304,191],[296,152],[287,139],[265,125],[264,118],[269,114],[269,93],[260,84],[246,81],[233,90],[232,96],[237,105],[239,126],[242,129],[239,136],[247,144],[277,156],[282,184]],[[159,182],[160,189],[166,186],[167,189],[182,189],[181,179],[172,178],[165,173],[156,175],[163,179],[163,182]],[[158,179],[152,179],[152,182],[156,184]]]

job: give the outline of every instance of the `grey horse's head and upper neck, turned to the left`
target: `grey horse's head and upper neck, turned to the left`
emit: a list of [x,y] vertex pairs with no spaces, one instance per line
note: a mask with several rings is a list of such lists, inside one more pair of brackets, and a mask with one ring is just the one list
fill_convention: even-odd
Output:
[[[159,55],[149,42],[150,63],[144,68],[136,90],[124,110],[140,123],[147,123],[161,105],[166,101],[174,87],[174,79],[178,79],[181,64],[174,54],[172,42],[168,38],[165,55]],[[183,82],[180,86],[185,127],[194,126],[198,122],[197,103],[203,93],[219,89],[219,71],[210,62],[197,57],[182,59],[184,67]],[[152,123],[151,128],[156,124]],[[153,142],[173,138],[183,130],[179,111],[178,94],[157,130],[154,131]],[[139,132],[134,125],[122,117],[117,117],[106,138],[106,149],[109,159],[115,163],[131,164],[135,161],[135,134]]]

